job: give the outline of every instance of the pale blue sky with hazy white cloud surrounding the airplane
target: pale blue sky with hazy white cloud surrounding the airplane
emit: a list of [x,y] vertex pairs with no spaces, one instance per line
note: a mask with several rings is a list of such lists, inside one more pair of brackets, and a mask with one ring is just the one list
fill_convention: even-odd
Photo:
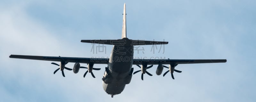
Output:
[[[111,98],[102,88],[104,70],[65,71],[50,61],[9,58],[10,54],[109,57],[91,52],[82,39],[121,38],[126,3],[127,37],[168,41],[164,54],[134,57],[227,59],[220,64],[178,65],[182,73],[155,74],[141,81],[135,74],[124,91]],[[172,101],[255,102],[256,1],[0,1],[0,101]],[[55,62],[58,63],[58,62]],[[85,66],[85,64],[83,65]],[[107,65],[95,65],[105,68]],[[67,67],[73,68],[73,64]],[[137,66],[133,66],[139,70]],[[164,72],[166,69],[164,69]]]

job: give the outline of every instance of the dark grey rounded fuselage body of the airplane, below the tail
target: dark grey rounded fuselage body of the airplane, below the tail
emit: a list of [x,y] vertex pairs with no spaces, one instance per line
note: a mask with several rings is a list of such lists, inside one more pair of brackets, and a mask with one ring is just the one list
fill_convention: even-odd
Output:
[[133,46],[114,45],[102,86],[110,95],[120,94],[132,79]]

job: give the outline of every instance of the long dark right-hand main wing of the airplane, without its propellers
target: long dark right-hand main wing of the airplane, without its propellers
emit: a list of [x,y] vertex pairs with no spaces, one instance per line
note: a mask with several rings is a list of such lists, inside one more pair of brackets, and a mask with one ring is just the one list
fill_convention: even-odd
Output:
[[227,59],[133,59],[133,65],[225,63]]

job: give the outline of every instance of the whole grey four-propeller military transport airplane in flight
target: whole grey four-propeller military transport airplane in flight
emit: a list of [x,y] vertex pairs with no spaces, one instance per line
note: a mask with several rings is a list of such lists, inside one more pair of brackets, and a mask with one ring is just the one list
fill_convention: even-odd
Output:
[[[60,70],[62,71],[63,77],[64,69],[73,70],[77,73],[80,68],[87,68],[88,70],[84,73],[84,77],[87,72],[92,74],[92,70],[100,70],[100,68],[93,68],[94,64],[106,64],[105,72],[102,78],[102,86],[105,92],[111,95],[120,94],[123,92],[126,84],[129,84],[132,79],[133,68],[132,65],[140,67],[139,71],[135,71],[133,74],[141,71],[141,79],[143,80],[143,74],[147,73],[152,76],[148,71],[153,65],[158,65],[156,68],[156,74],[161,75],[163,68],[168,68],[163,76],[168,72],[171,73],[172,78],[173,72],[181,72],[175,69],[179,64],[199,64],[199,63],[225,63],[226,59],[133,59],[133,46],[136,45],[154,45],[154,44],[168,44],[168,42],[160,41],[145,41],[145,40],[132,40],[126,37],[126,10],[124,3],[123,13],[123,28],[122,28],[122,39],[117,40],[81,40],[83,43],[96,43],[96,44],[110,44],[114,45],[110,54],[110,58],[73,58],[73,57],[50,57],[50,56],[27,56],[27,55],[10,55],[10,58],[21,58],[21,59],[34,59],[34,60],[45,60],[45,61],[58,61],[60,65],[52,63],[53,65],[60,66],[54,71],[54,74]],[[123,58],[124,60],[116,60]],[[75,63],[73,69],[65,67],[68,63]],[[80,63],[87,64],[87,67],[80,66]],[[141,65],[141,66],[140,66]],[[150,65],[150,66],[148,66]],[[169,65],[169,67],[165,66]]]

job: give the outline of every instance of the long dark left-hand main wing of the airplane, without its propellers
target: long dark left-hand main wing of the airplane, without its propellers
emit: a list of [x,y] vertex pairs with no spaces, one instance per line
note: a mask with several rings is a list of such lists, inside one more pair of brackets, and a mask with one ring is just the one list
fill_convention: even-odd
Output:
[[73,63],[94,63],[94,64],[108,64],[108,58],[73,58],[73,57],[51,57],[51,56],[27,56],[27,55],[10,55],[10,58],[20,59],[34,59],[44,61],[58,61],[64,60],[65,62]]

